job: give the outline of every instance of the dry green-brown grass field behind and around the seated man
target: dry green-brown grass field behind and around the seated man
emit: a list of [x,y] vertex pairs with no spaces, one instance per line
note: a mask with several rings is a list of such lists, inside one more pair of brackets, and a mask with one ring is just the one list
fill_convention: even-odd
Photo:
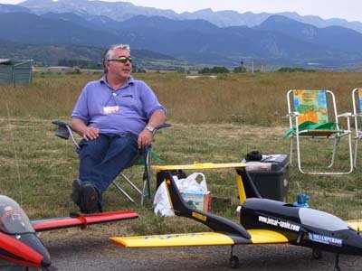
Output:
[[[78,174],[78,157],[71,143],[54,136],[52,119],[68,120],[81,88],[100,75],[38,75],[32,87],[0,86],[0,191],[21,202],[31,218],[65,216],[76,210],[70,200],[71,181]],[[167,107],[171,128],[161,131],[154,150],[165,164],[194,162],[235,163],[245,154],[289,154],[282,139],[289,126],[288,89],[331,89],[339,112],[351,111],[351,90],[362,86],[359,73],[254,73],[186,79],[182,73],[141,74]],[[315,142],[305,152],[306,165],[327,164],[330,151]],[[317,147],[321,151],[316,152]],[[347,145],[339,145],[336,167],[348,166]],[[360,163],[362,161],[360,160]],[[138,180],[141,168],[130,174]],[[231,199],[217,213],[237,220],[237,192],[233,171],[205,172],[211,193]],[[310,176],[290,170],[289,201],[295,201],[299,182],[311,196],[313,208],[343,219],[361,217],[361,169],[345,176]],[[125,223],[128,233],[155,233],[202,229],[194,222],[154,216],[147,202],[134,206],[111,187],[105,194],[106,210],[137,210],[137,222]]]

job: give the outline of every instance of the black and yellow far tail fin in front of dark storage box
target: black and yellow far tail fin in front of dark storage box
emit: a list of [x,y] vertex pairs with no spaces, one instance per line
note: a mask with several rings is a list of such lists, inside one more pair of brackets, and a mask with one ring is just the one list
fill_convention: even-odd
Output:
[[236,172],[236,182],[239,190],[240,204],[243,204],[243,201],[248,198],[262,199],[261,194],[256,189],[255,184],[252,182],[252,177],[246,171],[246,168],[238,168],[236,169]]

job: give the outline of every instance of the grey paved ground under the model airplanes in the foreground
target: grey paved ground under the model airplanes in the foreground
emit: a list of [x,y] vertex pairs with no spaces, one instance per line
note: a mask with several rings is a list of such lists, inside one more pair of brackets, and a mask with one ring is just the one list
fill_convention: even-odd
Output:
[[[65,234],[59,231],[41,237],[52,255],[52,271],[231,270],[230,247],[126,249],[110,243],[110,230],[72,229]],[[291,245],[238,246],[233,253],[240,260],[237,270],[334,270],[335,263],[330,253],[314,260],[309,248]],[[341,256],[339,266],[341,270],[362,270],[362,257]],[[3,263],[0,270],[25,269]]]

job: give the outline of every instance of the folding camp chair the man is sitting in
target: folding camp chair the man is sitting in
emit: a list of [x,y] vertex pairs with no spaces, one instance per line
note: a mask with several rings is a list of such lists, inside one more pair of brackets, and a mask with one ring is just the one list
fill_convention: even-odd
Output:
[[[80,150],[80,146],[78,145],[77,140],[74,137],[73,131],[71,130],[71,126],[61,120],[54,120],[52,121],[52,124],[57,126],[57,130],[55,131],[55,135],[61,137],[62,139],[69,139],[71,137],[71,141],[75,147],[75,150],[78,152]],[[155,135],[157,130],[161,128],[166,128],[171,126],[170,124],[164,123],[160,126],[155,127],[155,130],[153,131],[153,134]],[[143,173],[143,182],[141,185],[141,188],[138,188],[138,186],[129,180],[129,177],[126,176],[124,173],[119,173],[119,176],[121,179],[123,179],[125,182],[129,183],[131,188],[137,192],[140,195],[140,204],[143,205],[144,200],[146,197],[148,199],[151,198],[151,188],[150,188],[150,179],[151,179],[151,158],[156,158],[157,160],[160,160],[159,157],[155,153],[152,152],[151,147],[142,149],[140,154],[138,155],[138,159],[135,159],[135,163],[131,164],[130,166],[133,166],[135,164],[144,164],[145,171]],[[130,167],[129,166],[129,167]],[[128,192],[126,192],[124,189],[122,189],[116,180],[113,180],[113,185],[121,192],[129,201],[136,204],[136,201],[129,195]]]

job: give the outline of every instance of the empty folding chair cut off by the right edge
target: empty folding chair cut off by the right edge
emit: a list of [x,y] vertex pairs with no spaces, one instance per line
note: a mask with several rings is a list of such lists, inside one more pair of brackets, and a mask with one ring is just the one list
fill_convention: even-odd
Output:
[[357,167],[358,140],[362,138],[362,131],[359,124],[362,124],[362,88],[352,90],[353,117],[355,118],[355,159],[354,165]]

